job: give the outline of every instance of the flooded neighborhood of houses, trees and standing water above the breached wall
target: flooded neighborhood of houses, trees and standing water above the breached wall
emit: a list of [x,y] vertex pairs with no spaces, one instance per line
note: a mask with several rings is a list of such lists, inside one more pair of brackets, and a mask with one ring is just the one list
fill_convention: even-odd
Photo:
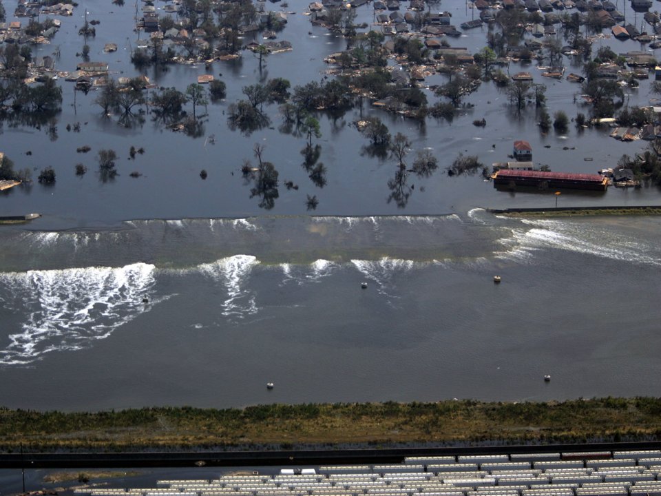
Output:
[[[658,196],[651,1],[2,6],[8,215],[65,227],[549,206],[564,187],[571,205]],[[505,180],[521,142],[534,174]],[[587,176],[548,174],[638,192],[586,197]]]

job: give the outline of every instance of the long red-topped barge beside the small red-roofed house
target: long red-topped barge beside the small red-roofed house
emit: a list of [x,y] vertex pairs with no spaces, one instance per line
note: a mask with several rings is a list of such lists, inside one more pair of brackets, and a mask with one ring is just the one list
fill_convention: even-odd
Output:
[[544,172],[531,170],[501,169],[491,176],[494,185],[532,186],[539,188],[592,189],[606,191],[608,179],[599,174],[575,174],[571,172]]

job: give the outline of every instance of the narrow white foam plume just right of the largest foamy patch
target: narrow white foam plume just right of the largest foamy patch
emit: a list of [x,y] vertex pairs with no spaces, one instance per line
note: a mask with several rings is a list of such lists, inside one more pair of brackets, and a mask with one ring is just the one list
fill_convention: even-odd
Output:
[[252,255],[234,255],[215,262],[198,265],[205,276],[218,280],[227,290],[227,299],[222,302],[222,315],[236,318],[257,313],[255,293],[244,288],[244,282],[255,265],[260,263]]

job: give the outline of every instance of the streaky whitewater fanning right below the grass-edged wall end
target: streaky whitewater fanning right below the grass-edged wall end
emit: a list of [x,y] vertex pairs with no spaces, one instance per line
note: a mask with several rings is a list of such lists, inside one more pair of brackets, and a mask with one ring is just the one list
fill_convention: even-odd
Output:
[[509,249],[496,253],[496,257],[527,260],[539,249],[552,248],[623,262],[661,265],[658,247],[632,241],[616,231],[562,220],[524,219],[521,222],[531,227],[512,229],[510,238],[499,240]]

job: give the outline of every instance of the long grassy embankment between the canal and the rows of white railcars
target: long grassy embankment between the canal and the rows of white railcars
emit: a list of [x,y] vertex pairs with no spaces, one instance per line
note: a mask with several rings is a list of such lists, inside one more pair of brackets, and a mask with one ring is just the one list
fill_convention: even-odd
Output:
[[586,442],[661,435],[661,399],[471,400],[61,413],[0,410],[0,451],[332,448],[347,444]]

